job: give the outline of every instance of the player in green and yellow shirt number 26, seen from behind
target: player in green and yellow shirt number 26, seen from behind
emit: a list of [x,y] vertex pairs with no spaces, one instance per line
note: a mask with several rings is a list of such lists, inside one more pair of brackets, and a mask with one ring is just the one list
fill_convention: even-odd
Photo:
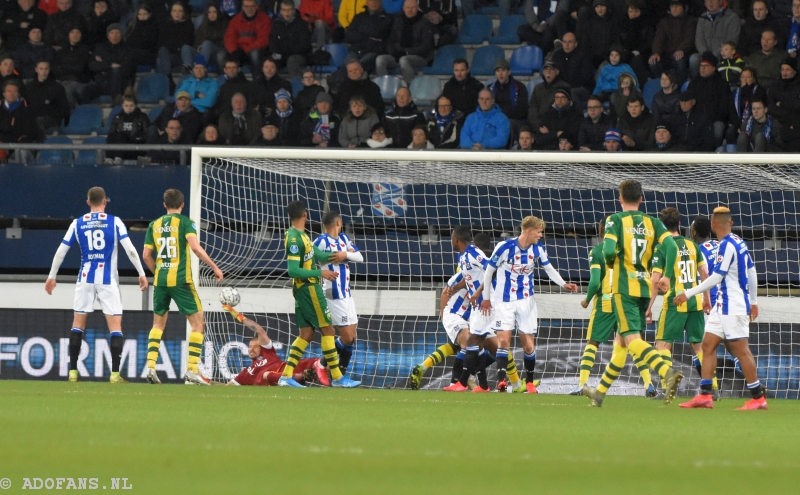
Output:
[[[175,301],[181,314],[186,315],[192,331],[189,333],[189,356],[184,380],[186,384],[208,385],[197,370],[203,352],[203,305],[192,281],[191,253],[214,270],[217,282],[222,281],[220,270],[197,239],[197,225],[183,211],[183,193],[167,189],[164,208],[167,214],[147,227],[142,259],[153,272],[153,328],[147,344],[147,381],[159,384],[156,361],[161,337],[167,325],[169,304]],[[153,259],[155,253],[155,259]]]

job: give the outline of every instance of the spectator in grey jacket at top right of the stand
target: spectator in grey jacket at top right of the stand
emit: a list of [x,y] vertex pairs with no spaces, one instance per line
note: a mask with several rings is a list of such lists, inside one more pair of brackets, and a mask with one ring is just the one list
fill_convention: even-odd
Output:
[[[741,22],[739,16],[723,5],[723,0],[705,0],[706,12],[697,20],[697,31],[694,46],[697,53],[689,58],[689,70],[692,77],[699,73],[700,60],[705,52],[719,57],[720,47],[726,41],[739,42]],[[699,95],[698,95],[699,97]],[[698,101],[700,101],[698,99]]]

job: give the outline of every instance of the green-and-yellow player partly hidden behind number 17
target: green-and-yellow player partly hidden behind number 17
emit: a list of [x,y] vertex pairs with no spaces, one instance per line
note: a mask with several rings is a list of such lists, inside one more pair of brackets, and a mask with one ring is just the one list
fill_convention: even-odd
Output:
[[[601,239],[605,234],[605,222],[606,219],[603,219],[598,226],[598,234]],[[592,299],[594,299],[594,308],[592,308],[589,329],[586,332],[586,347],[583,349],[583,356],[581,357],[580,382],[569,393],[570,395],[583,394],[583,387],[589,381],[589,375],[597,357],[597,347],[603,342],[608,342],[617,330],[617,318],[614,316],[614,304],[611,297],[611,270],[606,269],[602,244],[592,248],[589,253],[589,269],[589,289],[586,293],[586,299],[581,301],[581,306],[588,308]],[[620,349],[617,349],[618,347]],[[626,352],[622,337],[619,334],[614,336],[614,349],[618,353]],[[645,395],[655,397],[656,389],[653,387],[653,382],[650,378],[650,368],[641,359],[635,359],[635,361],[636,368],[644,380]],[[621,371],[621,369],[616,371]]]

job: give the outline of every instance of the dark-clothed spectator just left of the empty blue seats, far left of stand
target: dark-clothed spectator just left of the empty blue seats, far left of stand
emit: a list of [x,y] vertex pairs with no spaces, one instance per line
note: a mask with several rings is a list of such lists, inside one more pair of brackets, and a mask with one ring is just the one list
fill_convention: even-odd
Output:
[[36,64],[36,77],[25,84],[23,90],[28,112],[44,135],[69,121],[69,102],[64,87],[50,74],[50,62]]

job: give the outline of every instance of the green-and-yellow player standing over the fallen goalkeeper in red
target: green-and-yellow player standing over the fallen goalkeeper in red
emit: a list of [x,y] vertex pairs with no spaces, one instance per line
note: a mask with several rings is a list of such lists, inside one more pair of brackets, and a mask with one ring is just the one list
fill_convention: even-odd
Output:
[[314,246],[306,235],[308,211],[302,201],[292,201],[287,206],[289,221],[292,226],[286,231],[284,247],[289,276],[292,277],[292,295],[294,296],[295,319],[300,335],[292,342],[286,355],[286,367],[283,376],[278,380],[282,387],[304,387],[297,383],[292,375],[294,368],[303,357],[308,343],[314,338],[314,329],[322,333],[322,354],[331,370],[331,385],[334,387],[353,388],[361,385],[342,376],[339,369],[339,355],[336,351],[336,335],[331,325],[331,313],[328,302],[320,284],[320,278],[335,281],[338,273],[331,270],[315,268],[317,262],[341,263],[347,258],[347,251],[333,253],[323,251]]

